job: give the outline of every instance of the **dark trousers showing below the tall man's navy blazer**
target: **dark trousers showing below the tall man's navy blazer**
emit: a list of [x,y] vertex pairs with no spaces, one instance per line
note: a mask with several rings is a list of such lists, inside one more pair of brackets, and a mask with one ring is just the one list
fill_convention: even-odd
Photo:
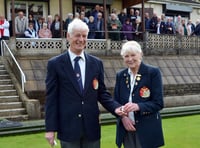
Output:
[[88,141],[81,139],[80,141],[65,142],[60,141],[61,148],[100,148],[100,140]]

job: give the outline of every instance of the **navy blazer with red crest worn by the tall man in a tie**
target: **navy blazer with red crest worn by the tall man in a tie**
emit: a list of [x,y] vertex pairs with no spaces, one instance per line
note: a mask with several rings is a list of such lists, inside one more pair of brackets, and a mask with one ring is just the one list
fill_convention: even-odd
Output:
[[58,133],[62,141],[76,141],[82,132],[88,140],[100,139],[98,101],[111,113],[120,105],[112,99],[104,84],[100,59],[86,54],[83,93],[70,61],[68,51],[50,59],[46,77],[46,131]]

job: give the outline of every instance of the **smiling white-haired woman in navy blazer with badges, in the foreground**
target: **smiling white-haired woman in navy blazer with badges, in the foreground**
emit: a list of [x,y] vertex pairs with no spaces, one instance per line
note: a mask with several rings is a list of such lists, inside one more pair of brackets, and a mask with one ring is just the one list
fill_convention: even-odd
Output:
[[127,116],[117,120],[116,144],[120,148],[157,148],[164,145],[161,117],[163,88],[157,67],[142,62],[141,46],[126,42],[121,55],[127,68],[116,76],[114,98]]

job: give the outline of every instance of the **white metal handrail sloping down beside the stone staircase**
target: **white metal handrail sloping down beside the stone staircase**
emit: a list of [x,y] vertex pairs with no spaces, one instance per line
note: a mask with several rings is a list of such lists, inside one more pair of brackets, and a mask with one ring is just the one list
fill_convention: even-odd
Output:
[[[5,48],[6,47],[6,48]],[[17,62],[16,58],[14,57],[13,53],[11,52],[10,48],[8,47],[7,43],[5,42],[5,40],[2,40],[1,42],[1,54],[2,56],[4,56],[4,51],[5,49],[8,50],[10,56],[12,57],[13,61],[15,62],[15,64],[17,65],[18,70],[20,71],[21,74],[21,86],[22,86],[22,91],[24,92],[24,84],[26,83],[26,77],[24,72],[22,71],[21,67],[19,66],[19,63]]]

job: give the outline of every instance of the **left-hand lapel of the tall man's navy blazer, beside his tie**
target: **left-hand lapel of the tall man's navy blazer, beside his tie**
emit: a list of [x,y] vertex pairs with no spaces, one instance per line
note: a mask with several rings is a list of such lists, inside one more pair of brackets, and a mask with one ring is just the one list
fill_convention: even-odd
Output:
[[82,95],[81,92],[80,92],[80,88],[79,88],[78,82],[76,80],[75,74],[74,74],[74,70],[73,70],[73,67],[72,67],[72,63],[70,61],[68,51],[66,53],[64,53],[62,57],[63,57],[62,62],[60,63],[62,65],[61,68],[64,70],[66,76],[69,77],[69,80],[72,82],[72,85],[74,86],[76,91],[80,95]]

